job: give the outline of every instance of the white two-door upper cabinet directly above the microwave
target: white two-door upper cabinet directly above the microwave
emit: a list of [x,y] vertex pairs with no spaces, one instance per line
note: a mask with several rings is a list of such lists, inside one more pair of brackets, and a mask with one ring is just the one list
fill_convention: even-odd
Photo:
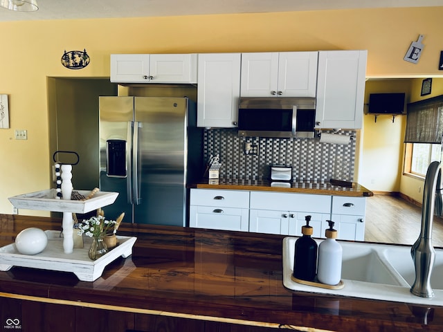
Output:
[[242,97],[315,97],[318,52],[242,53]]

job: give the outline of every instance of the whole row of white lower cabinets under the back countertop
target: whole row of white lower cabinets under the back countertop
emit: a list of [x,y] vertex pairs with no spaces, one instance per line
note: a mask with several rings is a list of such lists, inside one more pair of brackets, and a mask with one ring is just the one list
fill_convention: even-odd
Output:
[[363,241],[365,208],[365,197],[191,189],[190,227],[301,237],[310,215],[313,237],[325,238],[332,220],[338,239]]

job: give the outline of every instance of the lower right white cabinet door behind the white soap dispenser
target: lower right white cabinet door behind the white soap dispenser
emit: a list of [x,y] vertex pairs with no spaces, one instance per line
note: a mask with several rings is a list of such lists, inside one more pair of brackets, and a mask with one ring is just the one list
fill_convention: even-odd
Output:
[[334,229],[337,230],[337,239],[364,241],[365,219],[363,216],[332,214],[332,221],[335,222]]

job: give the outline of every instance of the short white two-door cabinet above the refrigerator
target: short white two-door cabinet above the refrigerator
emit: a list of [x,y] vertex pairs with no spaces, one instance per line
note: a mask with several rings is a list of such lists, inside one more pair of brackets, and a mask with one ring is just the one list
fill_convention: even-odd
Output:
[[197,54],[111,54],[111,82],[197,83]]

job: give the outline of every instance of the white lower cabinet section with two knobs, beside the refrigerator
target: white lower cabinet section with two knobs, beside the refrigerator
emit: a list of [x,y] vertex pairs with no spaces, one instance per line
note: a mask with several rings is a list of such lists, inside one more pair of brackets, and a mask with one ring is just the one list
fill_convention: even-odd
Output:
[[249,192],[190,190],[189,225],[214,230],[249,230]]

